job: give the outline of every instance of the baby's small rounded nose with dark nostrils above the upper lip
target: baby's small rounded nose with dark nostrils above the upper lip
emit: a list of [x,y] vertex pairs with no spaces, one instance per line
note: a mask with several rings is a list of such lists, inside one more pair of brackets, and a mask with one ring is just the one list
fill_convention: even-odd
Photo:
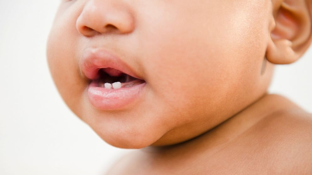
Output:
[[134,30],[134,18],[122,1],[88,0],[77,18],[76,28],[85,36],[107,32],[126,34]]

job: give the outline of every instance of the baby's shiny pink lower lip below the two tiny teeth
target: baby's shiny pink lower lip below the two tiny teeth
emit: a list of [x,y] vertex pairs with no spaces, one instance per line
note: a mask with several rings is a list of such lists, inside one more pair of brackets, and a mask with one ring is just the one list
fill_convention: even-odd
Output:
[[133,86],[122,87],[119,89],[108,89],[97,87],[97,82],[92,81],[88,87],[88,98],[91,104],[100,110],[123,109],[135,103],[142,93],[146,82]]

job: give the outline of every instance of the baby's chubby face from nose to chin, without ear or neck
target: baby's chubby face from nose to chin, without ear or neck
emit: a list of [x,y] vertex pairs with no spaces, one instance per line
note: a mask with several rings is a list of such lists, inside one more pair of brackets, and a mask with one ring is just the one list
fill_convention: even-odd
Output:
[[109,144],[174,144],[265,93],[270,13],[259,0],[62,0],[48,63],[66,104]]

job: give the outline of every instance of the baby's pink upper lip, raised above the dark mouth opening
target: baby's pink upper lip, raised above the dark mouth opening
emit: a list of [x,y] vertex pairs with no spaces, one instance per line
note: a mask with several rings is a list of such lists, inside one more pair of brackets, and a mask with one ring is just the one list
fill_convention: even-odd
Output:
[[108,67],[119,70],[132,77],[142,79],[118,56],[103,48],[88,48],[84,50],[79,66],[82,74],[91,80],[99,77],[99,69]]

